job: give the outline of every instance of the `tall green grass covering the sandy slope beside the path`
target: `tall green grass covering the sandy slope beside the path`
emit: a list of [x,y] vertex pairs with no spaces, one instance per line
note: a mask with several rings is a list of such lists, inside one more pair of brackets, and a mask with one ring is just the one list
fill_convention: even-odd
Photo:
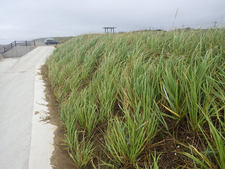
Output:
[[90,34],[57,48],[46,64],[74,165],[225,168],[224,35]]

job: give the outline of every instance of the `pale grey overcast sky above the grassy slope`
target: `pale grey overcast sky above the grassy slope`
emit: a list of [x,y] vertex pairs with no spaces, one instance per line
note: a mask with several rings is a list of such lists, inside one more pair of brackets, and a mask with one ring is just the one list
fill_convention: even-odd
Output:
[[225,25],[225,0],[0,0],[0,43],[214,22]]

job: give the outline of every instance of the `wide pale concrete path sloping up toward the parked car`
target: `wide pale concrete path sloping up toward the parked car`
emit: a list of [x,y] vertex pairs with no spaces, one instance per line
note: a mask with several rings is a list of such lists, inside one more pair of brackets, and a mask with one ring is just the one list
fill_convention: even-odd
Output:
[[38,47],[21,58],[0,60],[0,168],[27,169],[37,65],[53,46]]

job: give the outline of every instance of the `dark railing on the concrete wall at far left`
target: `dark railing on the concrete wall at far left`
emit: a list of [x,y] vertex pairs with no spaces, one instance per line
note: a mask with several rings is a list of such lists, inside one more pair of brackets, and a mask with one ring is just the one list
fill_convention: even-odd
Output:
[[16,46],[36,46],[36,43],[35,41],[14,41],[0,49],[0,53],[3,54]]

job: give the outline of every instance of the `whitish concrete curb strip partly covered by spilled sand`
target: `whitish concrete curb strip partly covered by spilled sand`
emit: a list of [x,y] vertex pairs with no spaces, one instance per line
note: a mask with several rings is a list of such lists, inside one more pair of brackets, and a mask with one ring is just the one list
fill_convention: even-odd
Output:
[[54,151],[54,131],[57,126],[49,123],[45,86],[40,74],[40,65],[36,67],[34,108],[29,157],[29,169],[50,169]]

